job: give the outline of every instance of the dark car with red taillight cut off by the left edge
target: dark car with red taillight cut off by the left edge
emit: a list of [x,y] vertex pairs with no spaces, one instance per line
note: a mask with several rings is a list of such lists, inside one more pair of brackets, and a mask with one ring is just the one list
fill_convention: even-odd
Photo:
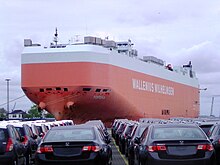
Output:
[[0,126],[0,164],[25,165],[24,138],[12,125]]

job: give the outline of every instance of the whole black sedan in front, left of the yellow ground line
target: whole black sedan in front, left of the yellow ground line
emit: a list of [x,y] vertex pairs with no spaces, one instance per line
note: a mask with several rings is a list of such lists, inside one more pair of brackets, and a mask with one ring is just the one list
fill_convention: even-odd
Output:
[[107,165],[112,149],[96,126],[53,127],[38,146],[35,164]]

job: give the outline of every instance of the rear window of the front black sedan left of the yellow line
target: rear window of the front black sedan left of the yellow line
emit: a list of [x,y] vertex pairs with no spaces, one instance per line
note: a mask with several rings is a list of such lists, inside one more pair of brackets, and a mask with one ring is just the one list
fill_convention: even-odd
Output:
[[95,134],[93,129],[64,129],[64,130],[50,130],[46,135],[45,142],[53,141],[80,141],[93,140]]

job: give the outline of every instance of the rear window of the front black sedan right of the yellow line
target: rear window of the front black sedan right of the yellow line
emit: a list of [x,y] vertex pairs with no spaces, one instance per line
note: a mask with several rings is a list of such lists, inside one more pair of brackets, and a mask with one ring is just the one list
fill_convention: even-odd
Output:
[[204,133],[196,127],[154,128],[152,139],[204,139]]

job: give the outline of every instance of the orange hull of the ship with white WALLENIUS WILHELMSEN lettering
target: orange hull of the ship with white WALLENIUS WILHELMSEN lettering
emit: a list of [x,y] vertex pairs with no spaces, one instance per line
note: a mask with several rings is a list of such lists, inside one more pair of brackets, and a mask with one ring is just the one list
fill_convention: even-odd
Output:
[[56,119],[198,117],[197,87],[111,64],[23,63],[22,89]]

